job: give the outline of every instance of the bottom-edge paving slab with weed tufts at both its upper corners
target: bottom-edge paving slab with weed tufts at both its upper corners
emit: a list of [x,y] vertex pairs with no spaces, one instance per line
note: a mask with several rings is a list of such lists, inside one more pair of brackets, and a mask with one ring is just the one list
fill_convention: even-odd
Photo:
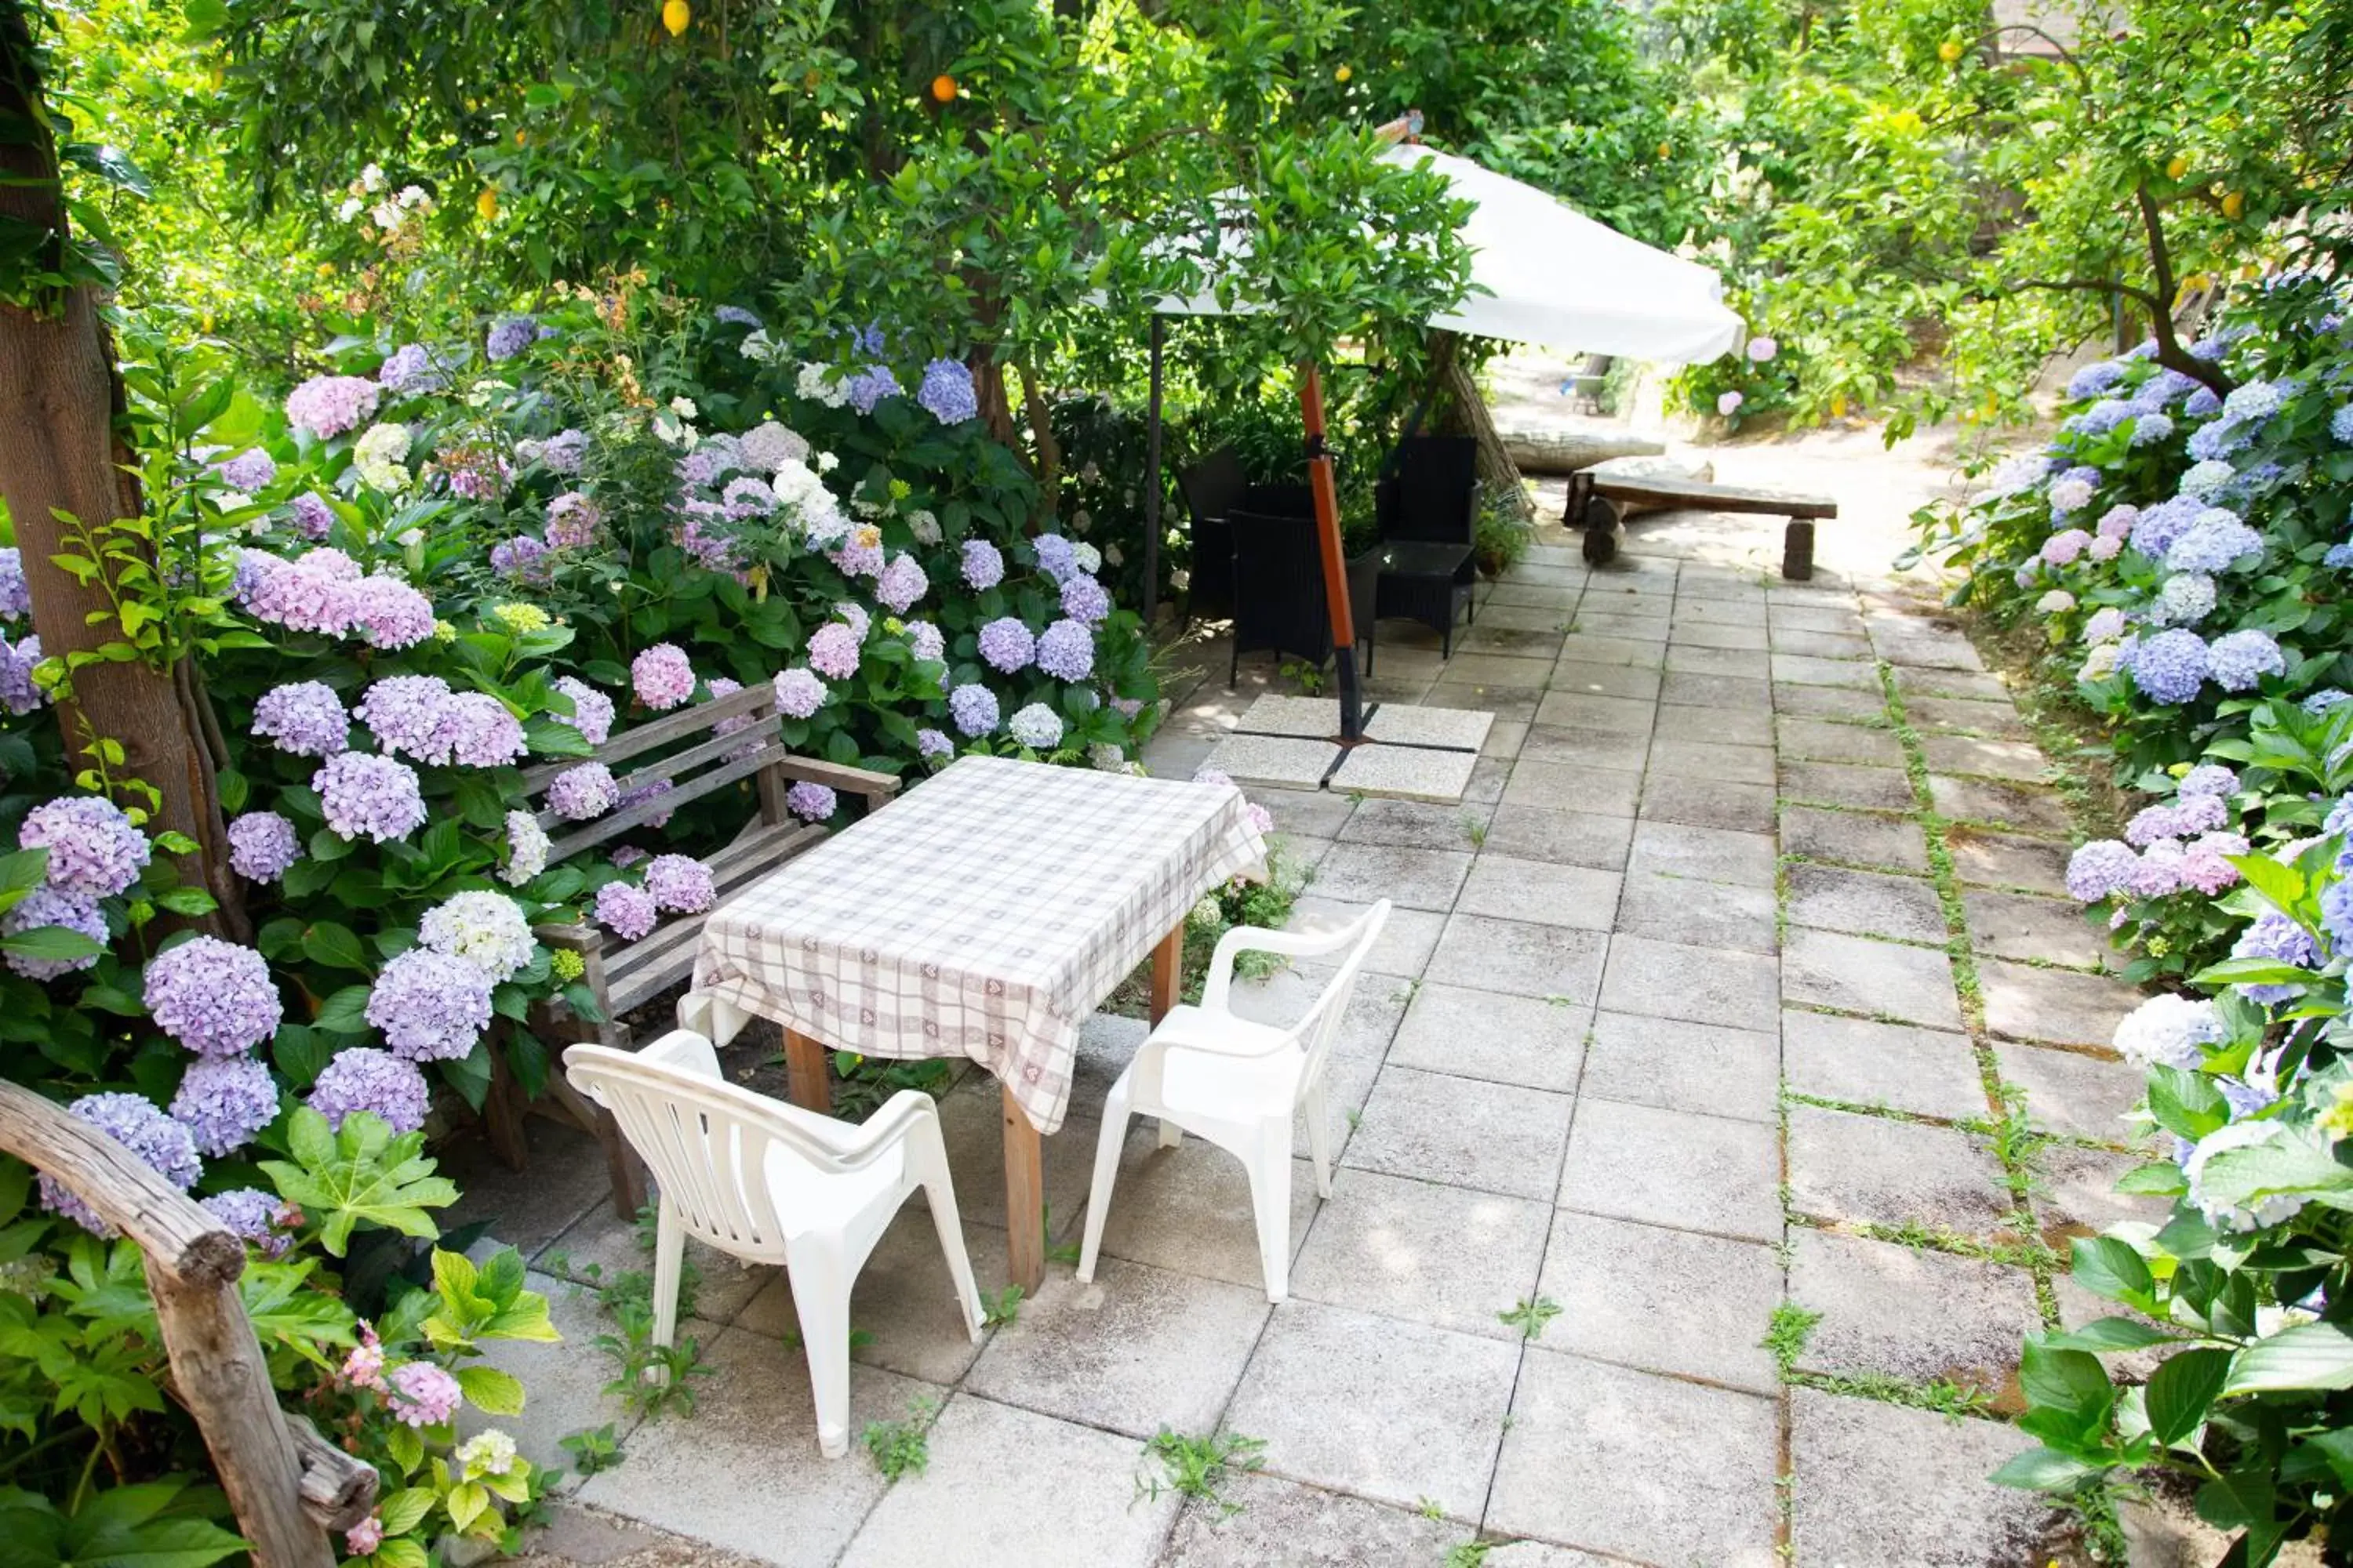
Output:
[[1779,1563],[1769,1399],[1537,1347],[1511,1413],[1487,1528],[1645,1563]]

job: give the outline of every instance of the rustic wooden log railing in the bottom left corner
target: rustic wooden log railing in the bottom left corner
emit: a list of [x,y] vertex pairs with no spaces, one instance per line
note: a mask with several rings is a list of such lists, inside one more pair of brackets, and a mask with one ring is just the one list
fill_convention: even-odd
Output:
[[19,1084],[0,1081],[0,1150],[59,1180],[146,1255],[169,1392],[205,1436],[254,1568],[334,1568],[327,1533],[374,1512],[376,1467],[278,1408],[238,1293],[245,1241],[120,1143]]

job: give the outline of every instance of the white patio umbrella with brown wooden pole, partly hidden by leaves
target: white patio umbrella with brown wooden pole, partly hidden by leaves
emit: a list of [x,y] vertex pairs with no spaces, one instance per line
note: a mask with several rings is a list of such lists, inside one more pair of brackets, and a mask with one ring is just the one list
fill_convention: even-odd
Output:
[[[1419,113],[1384,127],[1400,139],[1419,129]],[[1400,167],[1431,167],[1447,176],[1454,197],[1473,202],[1471,216],[1459,230],[1471,249],[1471,289],[1454,308],[1435,313],[1431,327],[1671,364],[1713,360],[1739,348],[1744,324],[1725,306],[1725,282],[1713,268],[1631,240],[1544,190],[1482,169],[1468,158],[1438,153],[1414,141],[1398,141],[1379,158]],[[1219,256],[1242,256],[1247,235],[1226,230],[1217,247]],[[1217,259],[1209,259],[1205,270],[1214,275]],[[1153,315],[1151,475],[1144,489],[1146,616],[1158,592],[1160,555],[1162,320],[1169,315],[1242,315],[1259,308],[1264,306],[1247,299],[1219,303],[1217,289],[1209,287],[1191,299],[1162,299]],[[1339,552],[1332,458],[1322,449],[1322,381],[1315,367],[1308,367],[1299,402],[1308,435],[1315,522],[1322,534],[1325,599],[1332,611],[1332,644],[1339,661],[1341,738],[1355,741],[1355,628]]]

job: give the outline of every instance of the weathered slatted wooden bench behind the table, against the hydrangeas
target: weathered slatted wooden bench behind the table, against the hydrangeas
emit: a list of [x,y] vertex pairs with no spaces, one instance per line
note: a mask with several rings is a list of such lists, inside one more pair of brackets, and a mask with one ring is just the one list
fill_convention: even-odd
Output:
[[[718,733],[718,726],[729,719],[744,726],[725,736]],[[701,856],[704,865],[711,867],[711,907],[718,910],[748,884],[824,842],[824,825],[802,823],[786,809],[784,792],[791,785],[826,785],[861,802],[861,811],[875,811],[899,792],[899,780],[889,773],[795,757],[786,750],[779,729],[774,689],[769,682],[760,682],[746,691],[621,731],[595,748],[591,757],[567,757],[527,771],[522,776],[525,795],[541,806],[539,825],[551,835],[548,865],[593,853],[706,795],[720,790],[741,795],[748,780],[758,804],[744,830],[715,853]],[[638,766],[624,771],[621,764],[633,759],[640,759]],[[631,790],[656,780],[668,780],[671,788],[633,806],[607,811],[591,823],[572,823],[546,809],[546,792],[555,778],[586,762],[609,766],[624,799]],[[605,1016],[591,1023],[558,999],[534,1016],[534,1030],[560,1041],[595,1039],[628,1051],[631,1032],[624,1016],[694,973],[694,950],[708,917],[708,910],[673,914],[635,943],[591,924],[539,926],[539,940],[581,957],[586,966],[581,978]],[[504,1058],[492,1056],[492,1100],[485,1107],[489,1143],[501,1161],[520,1168],[525,1095],[506,1072]],[[645,1206],[645,1171],[621,1131],[609,1114],[579,1095],[555,1065],[548,1070],[548,1091],[555,1107],[595,1133],[612,1171],[614,1208],[621,1218],[633,1218]]]

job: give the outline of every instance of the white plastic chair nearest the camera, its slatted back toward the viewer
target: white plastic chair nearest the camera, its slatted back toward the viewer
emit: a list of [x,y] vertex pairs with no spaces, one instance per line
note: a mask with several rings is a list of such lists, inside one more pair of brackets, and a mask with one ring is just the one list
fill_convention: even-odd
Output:
[[955,1298],[979,1342],[981,1293],[929,1095],[904,1088],[852,1126],[729,1084],[718,1051],[692,1030],[642,1051],[572,1046],[565,1077],[612,1112],[661,1185],[654,1345],[678,1333],[687,1237],[746,1262],[781,1262],[816,1392],[816,1446],[828,1460],[849,1453],[849,1288],[918,1187],[932,1201]]

